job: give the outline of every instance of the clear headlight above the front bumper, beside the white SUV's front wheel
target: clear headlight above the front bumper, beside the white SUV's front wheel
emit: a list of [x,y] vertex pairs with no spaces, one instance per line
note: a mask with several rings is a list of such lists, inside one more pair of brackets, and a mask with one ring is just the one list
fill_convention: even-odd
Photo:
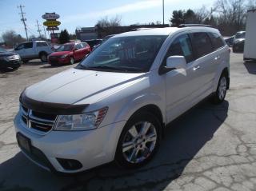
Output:
[[78,115],[60,115],[54,130],[91,130],[98,128],[106,115],[107,107],[90,113]]

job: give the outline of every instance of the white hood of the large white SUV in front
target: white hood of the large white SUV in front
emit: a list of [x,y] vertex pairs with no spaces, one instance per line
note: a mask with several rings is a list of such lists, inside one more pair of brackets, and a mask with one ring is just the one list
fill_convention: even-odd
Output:
[[30,99],[52,103],[75,104],[87,98],[97,101],[143,76],[145,74],[70,69],[26,88],[24,93]]

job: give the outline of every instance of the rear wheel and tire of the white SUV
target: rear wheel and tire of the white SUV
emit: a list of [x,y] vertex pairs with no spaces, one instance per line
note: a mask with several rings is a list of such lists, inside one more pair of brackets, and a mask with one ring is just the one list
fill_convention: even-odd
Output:
[[218,80],[217,90],[211,97],[211,102],[214,104],[221,104],[226,97],[226,90],[228,86],[228,79],[226,74],[222,74]]

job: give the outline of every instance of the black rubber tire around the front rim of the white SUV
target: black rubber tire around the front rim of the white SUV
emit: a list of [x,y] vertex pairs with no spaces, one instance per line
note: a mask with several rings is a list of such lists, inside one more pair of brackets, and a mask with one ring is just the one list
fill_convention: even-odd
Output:
[[[154,146],[154,150],[152,151],[152,153],[150,154],[149,157],[147,157],[144,161],[138,163],[138,164],[134,164],[134,163],[130,163],[128,161],[126,161],[125,157],[123,157],[123,153],[122,153],[122,141],[123,138],[126,135],[126,132],[130,129],[131,126],[133,126],[134,124],[140,122],[140,121],[148,121],[150,123],[152,123],[157,131],[157,141],[156,144]],[[124,126],[124,128],[122,129],[122,133],[119,137],[118,140],[118,147],[116,150],[116,154],[115,154],[115,161],[116,163],[124,168],[138,168],[141,167],[142,165],[146,165],[147,162],[149,162],[152,157],[154,157],[155,153],[158,151],[159,148],[159,144],[160,144],[160,139],[161,139],[161,125],[160,122],[158,121],[157,117],[154,117],[153,114],[149,113],[149,112],[138,112],[135,113],[132,117],[130,117],[130,119],[126,122],[126,125]]]

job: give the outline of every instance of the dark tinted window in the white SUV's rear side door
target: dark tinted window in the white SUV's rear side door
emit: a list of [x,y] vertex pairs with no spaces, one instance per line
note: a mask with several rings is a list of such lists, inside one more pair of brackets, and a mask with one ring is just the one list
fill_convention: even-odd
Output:
[[210,54],[213,51],[210,38],[206,33],[194,33],[191,35],[193,36],[193,44],[197,51],[197,58]]

